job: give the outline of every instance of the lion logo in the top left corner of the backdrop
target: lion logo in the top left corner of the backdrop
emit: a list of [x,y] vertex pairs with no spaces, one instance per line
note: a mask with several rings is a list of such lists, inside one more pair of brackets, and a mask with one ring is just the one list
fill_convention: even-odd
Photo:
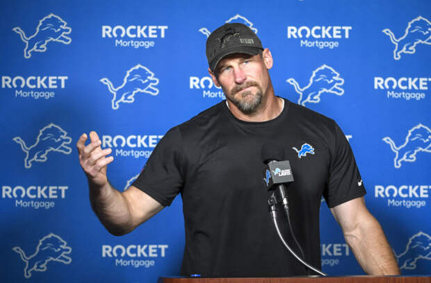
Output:
[[31,53],[47,51],[48,42],[60,42],[70,44],[72,39],[66,35],[72,32],[72,28],[67,26],[67,22],[54,14],[49,14],[39,21],[36,32],[31,37],[26,37],[24,31],[18,26],[12,29],[18,33],[21,40],[26,44],[24,48],[24,58],[29,59]]

